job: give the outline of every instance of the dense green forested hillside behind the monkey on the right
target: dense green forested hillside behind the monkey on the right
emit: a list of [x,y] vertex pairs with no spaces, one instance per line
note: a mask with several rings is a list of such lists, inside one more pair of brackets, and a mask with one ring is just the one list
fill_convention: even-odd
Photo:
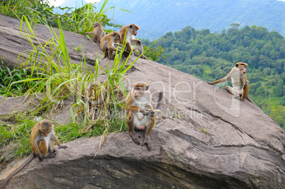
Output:
[[[236,62],[246,62],[250,98],[284,129],[285,39],[261,26],[240,29],[239,26],[233,23],[222,33],[190,26],[166,33],[154,45],[157,50],[160,46],[164,48],[157,62],[205,81],[223,78]],[[143,42],[152,44],[149,40]],[[230,81],[220,86],[226,84]]]

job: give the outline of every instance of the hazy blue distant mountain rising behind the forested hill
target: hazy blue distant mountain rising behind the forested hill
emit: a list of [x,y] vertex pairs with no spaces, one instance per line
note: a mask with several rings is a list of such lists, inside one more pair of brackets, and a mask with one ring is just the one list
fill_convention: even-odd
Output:
[[[104,0],[99,3],[101,7]],[[109,0],[106,7],[116,6],[114,22],[140,26],[138,38],[155,40],[169,31],[190,25],[196,30],[220,33],[231,23],[260,25],[285,36],[285,1],[276,0]],[[123,8],[128,11],[121,11]],[[113,17],[113,9],[108,11]]]

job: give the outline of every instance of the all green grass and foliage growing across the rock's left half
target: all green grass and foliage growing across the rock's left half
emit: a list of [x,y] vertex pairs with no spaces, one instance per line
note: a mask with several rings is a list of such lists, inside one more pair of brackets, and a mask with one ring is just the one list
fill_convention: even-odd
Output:
[[[39,4],[26,0],[0,2],[1,13],[16,18],[21,17],[20,37],[30,42],[31,49],[22,53],[26,54],[27,59],[21,67],[12,71],[9,68],[0,69],[3,81],[1,84],[4,84],[0,86],[1,95],[6,97],[34,93],[44,95],[37,110],[0,118],[6,121],[0,123],[0,147],[2,147],[0,168],[9,161],[27,156],[32,152],[29,137],[35,123],[44,118],[52,120],[55,112],[59,110],[58,104],[69,99],[70,96],[74,97],[74,104],[70,108],[71,122],[65,125],[55,123],[55,133],[60,142],[66,143],[80,137],[96,136],[101,136],[101,142],[103,142],[109,132],[126,131],[124,119],[126,90],[123,79],[125,72],[133,67],[133,63],[139,57],[126,66],[129,57],[122,59],[122,54],[116,55],[112,61],[112,67],[107,69],[99,65],[97,58],[94,69],[88,68],[84,57],[80,64],[74,64],[68,55],[65,36],[62,32],[64,28],[76,33],[85,33],[86,30],[90,30],[95,21],[103,21],[104,25],[111,25],[104,10],[108,0],[104,1],[104,6],[97,12],[94,11],[93,4],[86,4],[67,14],[68,16],[62,17],[51,13],[43,1],[38,2]],[[24,4],[26,6],[23,6]],[[36,23],[45,24],[52,38],[40,43],[33,31]],[[60,35],[57,35],[50,25],[58,26]],[[52,49],[51,54],[47,53],[46,47]],[[74,47],[74,50],[80,51],[81,48]],[[29,74],[27,70],[30,71]],[[101,74],[107,77],[103,83],[98,81]],[[16,144],[14,150],[4,151],[4,147],[13,144]],[[8,158],[4,158],[6,154],[10,154]]]

